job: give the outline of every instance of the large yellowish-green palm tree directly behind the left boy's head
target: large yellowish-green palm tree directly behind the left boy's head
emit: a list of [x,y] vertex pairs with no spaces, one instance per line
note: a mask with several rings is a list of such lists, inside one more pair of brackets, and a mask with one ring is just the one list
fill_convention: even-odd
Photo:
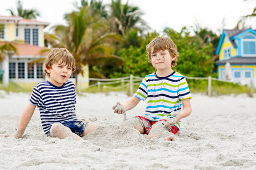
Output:
[[108,61],[123,61],[114,56],[112,42],[119,39],[116,33],[109,33],[106,21],[93,16],[90,7],[85,6],[79,11],[65,15],[68,26],[56,25],[54,35],[47,35],[53,47],[67,48],[76,59],[77,75],[83,73],[82,66],[98,65]]

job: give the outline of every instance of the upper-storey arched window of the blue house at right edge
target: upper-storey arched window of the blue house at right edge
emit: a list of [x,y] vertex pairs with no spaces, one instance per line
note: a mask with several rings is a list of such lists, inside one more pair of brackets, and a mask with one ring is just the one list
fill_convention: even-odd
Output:
[[244,55],[255,55],[256,54],[256,39],[254,36],[245,36],[242,39],[242,47]]

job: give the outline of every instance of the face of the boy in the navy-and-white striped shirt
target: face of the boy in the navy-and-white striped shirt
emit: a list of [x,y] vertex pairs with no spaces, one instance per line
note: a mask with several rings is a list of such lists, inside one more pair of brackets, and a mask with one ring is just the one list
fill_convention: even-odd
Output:
[[49,82],[51,82],[55,86],[62,86],[63,83],[67,82],[69,77],[72,74],[72,67],[61,63],[55,63],[52,65],[52,69],[47,69],[47,73],[49,73],[50,78]]

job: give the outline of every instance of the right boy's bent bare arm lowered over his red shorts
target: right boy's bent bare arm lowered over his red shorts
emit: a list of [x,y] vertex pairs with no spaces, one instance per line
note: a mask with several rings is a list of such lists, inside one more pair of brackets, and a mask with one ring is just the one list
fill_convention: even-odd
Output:
[[181,120],[181,118],[188,117],[191,114],[192,109],[191,109],[190,99],[182,100],[182,105],[183,105],[183,111],[181,111],[180,113],[177,113],[177,112],[172,113],[172,116],[175,116],[175,117],[171,118],[166,122],[167,126],[174,126],[176,122]]

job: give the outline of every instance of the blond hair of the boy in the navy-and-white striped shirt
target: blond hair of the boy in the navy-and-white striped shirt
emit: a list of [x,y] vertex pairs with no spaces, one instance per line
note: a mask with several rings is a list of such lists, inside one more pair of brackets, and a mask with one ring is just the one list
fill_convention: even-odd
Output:
[[44,63],[44,72],[50,78],[47,69],[52,69],[52,66],[56,63],[68,65],[72,67],[72,72],[76,70],[76,61],[71,53],[65,48],[53,48],[47,55],[46,62]]

